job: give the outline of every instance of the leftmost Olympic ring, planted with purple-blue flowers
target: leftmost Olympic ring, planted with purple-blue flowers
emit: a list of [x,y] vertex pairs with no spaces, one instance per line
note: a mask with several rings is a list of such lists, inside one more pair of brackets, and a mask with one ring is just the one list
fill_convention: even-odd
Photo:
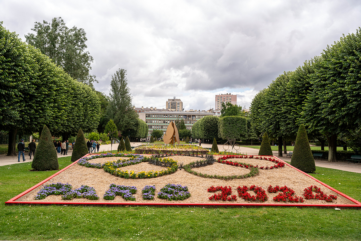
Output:
[[[115,163],[117,163],[117,165],[119,165],[119,167],[125,167],[126,165],[132,165],[130,163],[132,163],[132,161],[135,160],[139,161],[138,163],[145,161],[144,156],[139,155],[139,154],[123,154],[123,153],[117,153],[117,154],[112,154],[112,153],[106,153],[106,154],[99,154],[99,155],[92,155],[92,156],[86,156],[84,158],[81,158],[78,160],[78,164],[82,165],[84,167],[91,167],[91,168],[103,168],[105,164],[101,164],[101,163],[90,163],[88,162],[88,160],[92,160],[92,159],[96,159],[96,158],[104,158],[104,157],[129,157],[130,159],[128,159],[127,161],[123,162],[123,160],[118,160]],[[128,164],[127,164],[128,162]],[[138,164],[138,163],[133,163],[133,164]]]

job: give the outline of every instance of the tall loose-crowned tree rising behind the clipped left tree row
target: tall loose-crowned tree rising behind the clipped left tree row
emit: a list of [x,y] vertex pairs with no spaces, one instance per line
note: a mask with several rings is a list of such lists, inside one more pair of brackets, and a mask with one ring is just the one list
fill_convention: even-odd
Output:
[[61,17],[53,18],[51,23],[43,20],[35,22],[34,33],[25,35],[26,42],[49,56],[53,63],[61,66],[66,73],[77,81],[92,85],[96,81],[89,74],[93,57],[86,51],[87,41],[84,29],[69,29]]

